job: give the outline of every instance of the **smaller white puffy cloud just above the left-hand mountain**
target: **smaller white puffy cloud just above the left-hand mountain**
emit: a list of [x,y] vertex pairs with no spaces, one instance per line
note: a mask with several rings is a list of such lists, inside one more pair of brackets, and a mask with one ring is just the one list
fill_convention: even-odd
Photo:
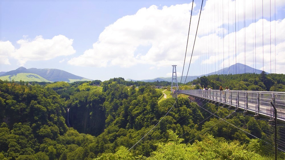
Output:
[[[27,38],[27,36],[23,36]],[[17,41],[20,48],[15,49],[11,42],[0,42],[0,58],[4,64],[9,64],[9,58],[14,58],[19,65],[27,61],[50,60],[58,56],[68,56],[76,51],[72,47],[73,39],[63,35],[54,36],[52,39],[44,39],[36,36],[33,40],[21,39]]]

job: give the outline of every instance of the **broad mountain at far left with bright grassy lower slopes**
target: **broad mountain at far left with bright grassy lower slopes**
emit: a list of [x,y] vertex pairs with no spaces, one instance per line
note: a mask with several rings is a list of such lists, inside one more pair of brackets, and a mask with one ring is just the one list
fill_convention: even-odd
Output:
[[[23,73],[23,74],[20,74]],[[60,69],[37,69],[30,68],[26,69],[25,67],[19,67],[16,70],[12,70],[6,73],[3,73],[0,77],[1,80],[12,81],[37,81],[37,82],[75,82],[75,81],[91,81],[84,77],[74,75],[72,73],[60,70]],[[17,79],[17,80],[16,80]],[[25,79],[25,80],[24,80]]]

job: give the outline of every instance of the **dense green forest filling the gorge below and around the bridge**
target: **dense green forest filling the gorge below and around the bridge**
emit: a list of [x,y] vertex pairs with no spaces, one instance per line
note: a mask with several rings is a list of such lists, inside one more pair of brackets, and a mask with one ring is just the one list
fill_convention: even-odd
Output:
[[[260,75],[239,76],[232,81],[264,82]],[[279,79],[284,75],[265,76],[284,89],[284,79]],[[234,84],[226,75],[206,78],[211,82],[214,77],[219,83]],[[156,84],[164,83],[168,84]],[[158,103],[162,93],[153,84],[137,87],[123,78],[32,85],[0,80],[0,159],[264,159],[268,155],[262,141],[270,127],[266,121],[202,103],[221,118],[230,115],[227,122],[260,138],[256,139],[219,122],[188,98]]]

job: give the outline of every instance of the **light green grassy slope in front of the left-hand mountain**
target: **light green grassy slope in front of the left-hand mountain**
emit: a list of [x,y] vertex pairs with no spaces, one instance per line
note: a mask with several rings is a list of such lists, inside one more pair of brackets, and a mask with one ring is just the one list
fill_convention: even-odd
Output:
[[34,73],[18,73],[18,74],[11,76],[10,78],[9,77],[10,77],[9,75],[6,75],[6,76],[0,77],[0,79],[2,81],[5,81],[5,80],[12,81],[14,79],[14,81],[22,80],[25,82],[26,81],[51,82]]

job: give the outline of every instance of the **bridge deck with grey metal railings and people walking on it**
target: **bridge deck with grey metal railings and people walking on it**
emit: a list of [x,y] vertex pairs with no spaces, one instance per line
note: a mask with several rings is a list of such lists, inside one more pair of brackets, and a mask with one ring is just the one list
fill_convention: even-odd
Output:
[[277,120],[285,122],[284,92],[178,90],[175,93],[212,100],[271,120],[274,108],[270,102],[273,102],[277,108]]

